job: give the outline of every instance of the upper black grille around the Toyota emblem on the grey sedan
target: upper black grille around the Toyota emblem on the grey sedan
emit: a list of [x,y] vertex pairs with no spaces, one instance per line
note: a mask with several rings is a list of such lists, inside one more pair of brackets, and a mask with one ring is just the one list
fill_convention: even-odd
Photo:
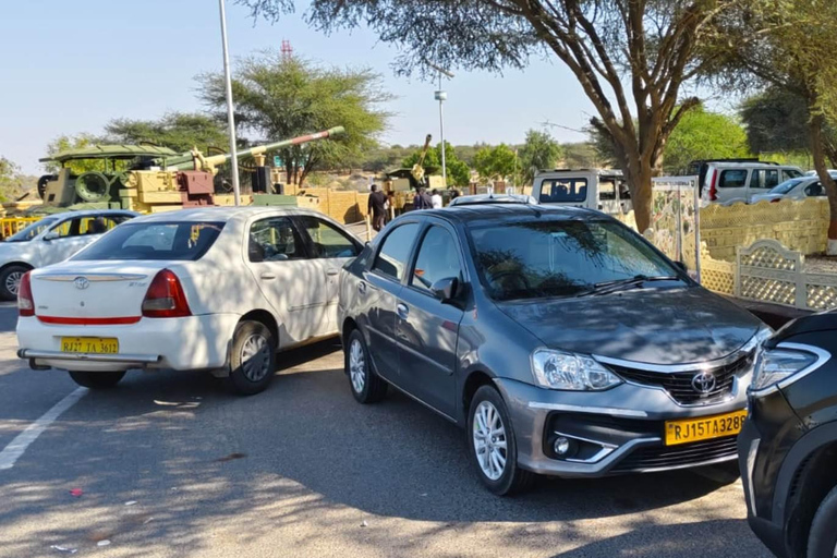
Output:
[[706,393],[702,393],[692,387],[692,379],[701,372],[700,369],[689,372],[648,372],[612,364],[608,364],[608,366],[627,380],[646,386],[662,386],[678,403],[684,405],[708,404],[718,402],[729,395],[732,390],[735,378],[743,375],[752,366],[754,355],[755,352],[753,351],[730,364],[705,371],[715,376],[715,389]]

